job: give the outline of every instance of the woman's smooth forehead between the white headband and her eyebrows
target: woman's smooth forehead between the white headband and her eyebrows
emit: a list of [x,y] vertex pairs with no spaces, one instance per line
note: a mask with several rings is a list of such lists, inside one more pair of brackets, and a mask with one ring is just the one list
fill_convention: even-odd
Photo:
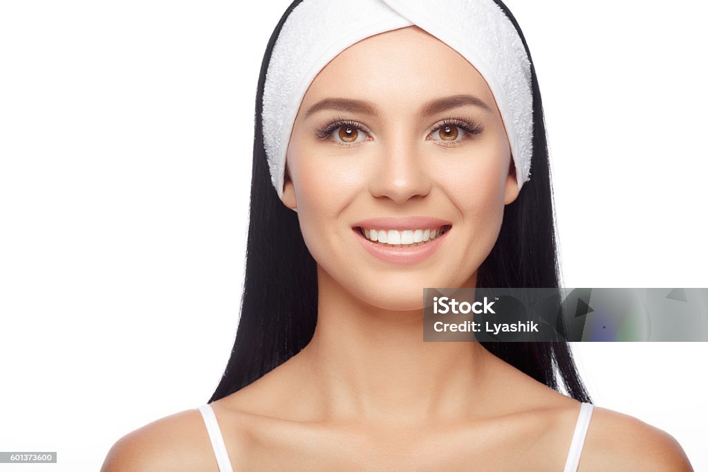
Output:
[[372,101],[399,97],[418,103],[455,94],[494,103],[472,64],[435,36],[409,26],[365,38],[341,52],[317,74],[302,103],[333,95]]

